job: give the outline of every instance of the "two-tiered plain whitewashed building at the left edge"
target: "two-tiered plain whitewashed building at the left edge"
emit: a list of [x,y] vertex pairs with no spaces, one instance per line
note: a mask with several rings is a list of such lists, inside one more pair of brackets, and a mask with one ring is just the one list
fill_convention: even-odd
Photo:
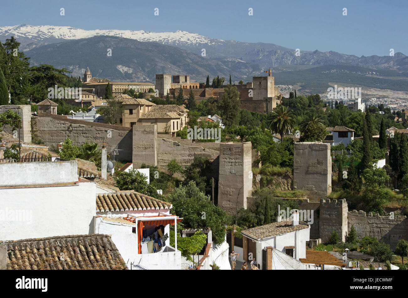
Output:
[[76,160],[0,163],[0,173],[0,240],[92,230],[95,183],[78,179]]

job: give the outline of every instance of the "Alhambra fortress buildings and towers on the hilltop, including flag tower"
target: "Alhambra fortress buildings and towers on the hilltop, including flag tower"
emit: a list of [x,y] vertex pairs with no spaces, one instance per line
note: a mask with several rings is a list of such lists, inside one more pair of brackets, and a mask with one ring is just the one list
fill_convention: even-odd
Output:
[[[172,82],[173,80],[173,82]],[[156,74],[156,83],[144,82],[113,82],[109,79],[98,79],[92,77],[92,73],[88,67],[84,73],[84,83],[82,89],[92,88],[98,97],[103,97],[108,83],[112,88],[112,95],[121,95],[125,90],[133,89],[136,93],[140,93],[140,97],[148,99],[155,93],[149,92],[149,89],[158,90],[159,97],[177,96],[180,86],[184,91],[184,96],[188,96],[190,91],[193,91],[197,102],[204,99],[214,97],[221,99],[224,93],[224,88],[206,88],[205,84],[190,82],[189,75],[171,75],[170,73]],[[279,93],[279,88],[275,86],[275,78],[272,76],[271,68],[269,68],[267,76],[253,77],[252,82],[246,84],[234,85],[239,92],[241,108],[251,112],[270,113],[273,108],[279,104],[282,95]]]

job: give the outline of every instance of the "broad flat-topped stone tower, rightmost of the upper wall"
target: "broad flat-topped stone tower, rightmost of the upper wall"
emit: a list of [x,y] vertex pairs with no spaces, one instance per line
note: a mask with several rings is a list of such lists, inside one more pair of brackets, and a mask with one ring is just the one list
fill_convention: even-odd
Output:
[[295,143],[293,190],[304,190],[308,199],[322,199],[331,192],[330,144]]

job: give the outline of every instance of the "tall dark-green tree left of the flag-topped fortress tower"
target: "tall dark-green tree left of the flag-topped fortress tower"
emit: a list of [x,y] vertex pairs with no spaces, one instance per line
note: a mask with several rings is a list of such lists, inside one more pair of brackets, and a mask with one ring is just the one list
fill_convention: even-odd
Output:
[[219,108],[222,114],[222,123],[226,128],[235,126],[239,116],[239,92],[236,86],[228,85],[224,88]]

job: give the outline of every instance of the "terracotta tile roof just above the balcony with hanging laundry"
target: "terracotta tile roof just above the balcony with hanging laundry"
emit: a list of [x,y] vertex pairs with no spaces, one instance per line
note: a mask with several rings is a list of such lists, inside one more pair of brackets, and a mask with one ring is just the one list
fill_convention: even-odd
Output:
[[164,210],[170,207],[170,203],[133,191],[98,194],[96,197],[96,212]]

